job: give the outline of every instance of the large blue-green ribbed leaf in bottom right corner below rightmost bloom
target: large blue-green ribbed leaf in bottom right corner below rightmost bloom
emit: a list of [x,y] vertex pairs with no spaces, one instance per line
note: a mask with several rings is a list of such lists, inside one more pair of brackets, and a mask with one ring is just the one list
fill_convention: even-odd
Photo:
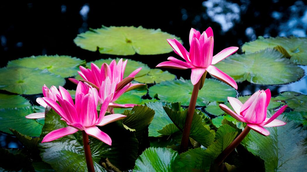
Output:
[[[278,117],[285,121],[286,118]],[[252,154],[264,160],[266,171],[307,171],[304,140],[307,131],[290,121],[279,127],[267,127],[269,136],[251,130],[241,142]]]

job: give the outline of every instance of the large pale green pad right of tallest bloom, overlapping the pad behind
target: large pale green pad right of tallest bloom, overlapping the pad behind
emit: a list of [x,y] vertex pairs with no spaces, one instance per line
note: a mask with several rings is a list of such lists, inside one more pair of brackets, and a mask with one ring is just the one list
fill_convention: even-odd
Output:
[[251,54],[235,54],[215,65],[235,81],[258,85],[279,85],[295,82],[304,76],[304,69],[283,58],[275,49]]

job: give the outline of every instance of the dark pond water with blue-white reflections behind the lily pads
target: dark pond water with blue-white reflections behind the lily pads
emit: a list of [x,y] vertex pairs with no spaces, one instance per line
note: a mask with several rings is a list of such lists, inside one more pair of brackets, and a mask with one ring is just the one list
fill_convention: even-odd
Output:
[[[77,47],[73,39],[89,28],[105,26],[143,26],[161,28],[181,37],[187,46],[191,28],[204,31],[211,26],[215,32],[214,54],[226,47],[240,47],[258,36],[306,37],[307,3],[278,0],[262,2],[250,0],[208,0],[182,3],[131,2],[91,3],[21,3],[2,5],[0,39],[1,67],[7,62],[32,55],[69,55],[87,62],[118,56],[99,54]],[[239,49],[239,53],[242,53]],[[125,56],[154,68],[174,53],[162,55]],[[305,71],[307,68],[302,66]],[[163,69],[165,70],[165,69]],[[177,78],[190,78],[186,70],[173,70]],[[272,95],[282,91],[307,94],[307,79],[282,86],[257,86],[245,81],[238,84],[240,95],[249,95],[258,89],[270,88]],[[71,85],[66,85],[71,87]],[[6,92],[7,93],[7,92]],[[15,138],[0,135],[0,147],[16,148],[21,144]]]

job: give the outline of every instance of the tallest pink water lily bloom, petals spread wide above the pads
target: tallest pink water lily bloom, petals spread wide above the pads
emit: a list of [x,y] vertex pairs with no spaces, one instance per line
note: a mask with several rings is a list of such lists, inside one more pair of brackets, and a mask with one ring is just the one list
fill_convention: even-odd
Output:
[[205,71],[207,71],[212,76],[222,80],[231,87],[235,89],[238,88],[235,80],[233,80],[230,76],[228,76],[226,73],[223,73],[220,69],[213,65],[235,53],[239,48],[228,47],[213,56],[214,41],[211,27],[207,28],[207,30],[202,34],[193,28],[191,29],[189,36],[189,52],[176,39],[167,39],[167,41],[173,47],[174,52],[182,57],[185,62],[174,57],[169,57],[169,61],[162,62],[156,67],[192,69],[191,81],[193,85],[197,84]]

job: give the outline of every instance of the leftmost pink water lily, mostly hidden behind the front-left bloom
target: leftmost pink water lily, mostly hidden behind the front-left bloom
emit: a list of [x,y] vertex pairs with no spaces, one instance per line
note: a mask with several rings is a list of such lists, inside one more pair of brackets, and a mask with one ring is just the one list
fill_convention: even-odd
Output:
[[[42,88],[44,97],[48,97],[54,101],[57,101],[56,95],[60,95],[59,90],[55,86],[51,86],[49,89],[45,84]],[[43,98],[39,97],[36,99],[36,102],[40,104],[42,107],[47,106]],[[45,118],[45,112],[33,113],[25,116],[25,118],[36,119],[36,118]]]

